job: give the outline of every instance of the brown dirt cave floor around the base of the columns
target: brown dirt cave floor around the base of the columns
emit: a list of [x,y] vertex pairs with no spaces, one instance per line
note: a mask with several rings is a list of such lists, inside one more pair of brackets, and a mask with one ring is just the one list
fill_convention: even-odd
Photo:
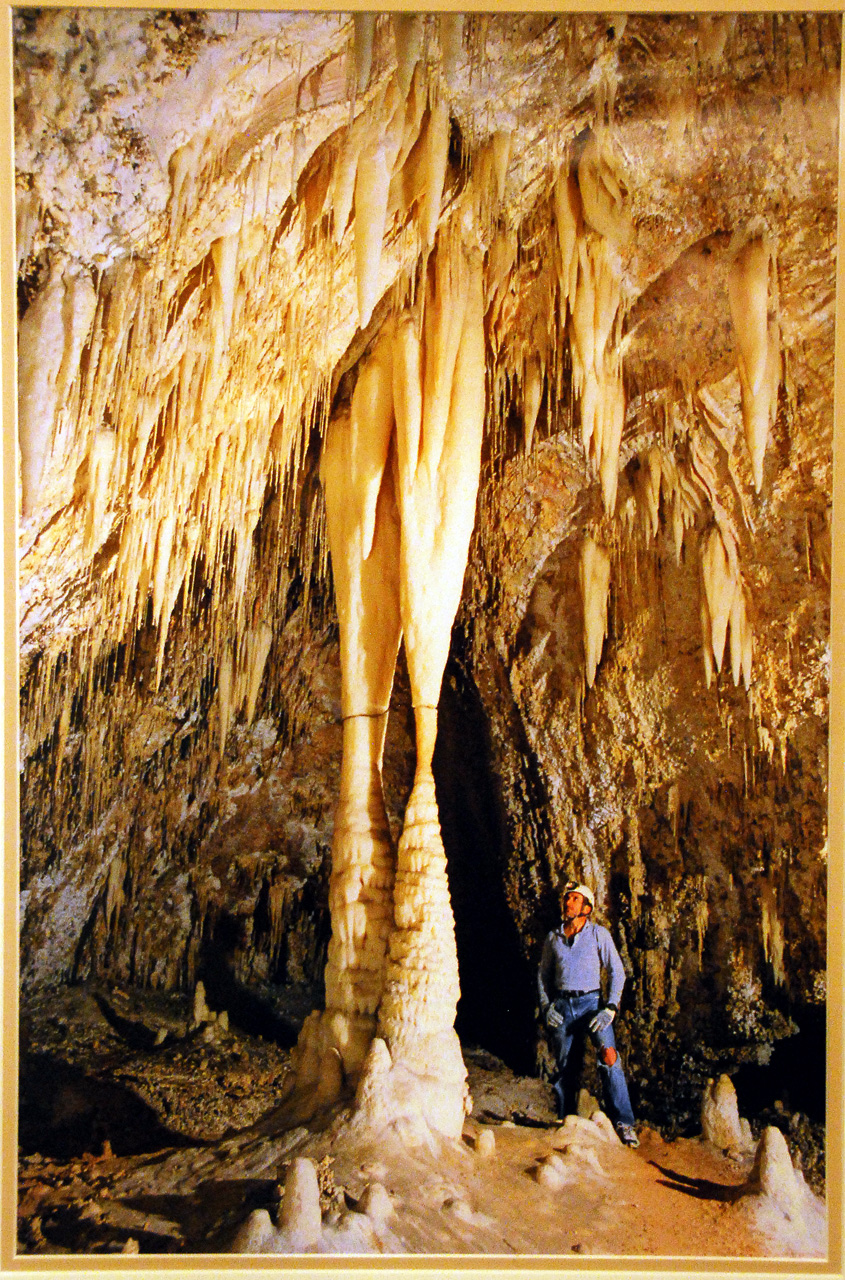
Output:
[[[277,1220],[286,1171],[309,1156],[328,1228],[319,1252],[825,1256],[817,1178],[812,1190],[799,1175],[790,1219],[754,1193],[752,1153],[648,1125],[631,1151],[586,1115],[562,1126],[545,1082],[466,1046],[461,1142],[374,1143],[341,1108],[296,1125],[278,1105],[284,1036],[198,1014],[186,997],[96,986],[22,1006],[20,1254],[230,1252],[254,1210]],[[356,1234],[376,1181],[389,1220]]]

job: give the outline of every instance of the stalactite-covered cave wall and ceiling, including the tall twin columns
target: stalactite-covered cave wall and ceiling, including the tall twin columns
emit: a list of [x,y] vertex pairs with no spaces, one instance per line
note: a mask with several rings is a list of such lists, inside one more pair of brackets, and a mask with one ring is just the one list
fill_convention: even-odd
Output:
[[14,22],[24,991],[324,989],[302,1088],[460,1133],[458,966],[507,1041],[574,876],[643,1108],[769,1062],[825,1004],[839,18]]

